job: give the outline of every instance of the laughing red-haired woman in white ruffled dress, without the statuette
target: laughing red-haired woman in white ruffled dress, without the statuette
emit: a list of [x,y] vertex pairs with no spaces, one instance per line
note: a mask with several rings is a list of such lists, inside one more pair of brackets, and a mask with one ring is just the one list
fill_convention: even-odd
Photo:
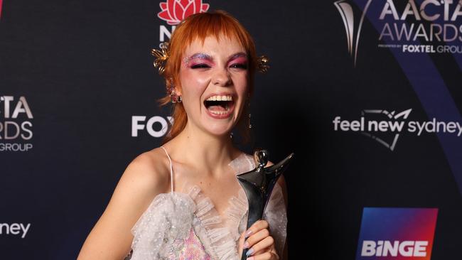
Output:
[[254,163],[230,133],[248,136],[254,71],[266,70],[249,33],[224,11],[197,13],[176,28],[168,52],[154,54],[173,126],[163,146],[129,164],[78,259],[240,259],[245,248],[250,260],[282,259],[284,178],[265,220],[248,230],[236,179]]

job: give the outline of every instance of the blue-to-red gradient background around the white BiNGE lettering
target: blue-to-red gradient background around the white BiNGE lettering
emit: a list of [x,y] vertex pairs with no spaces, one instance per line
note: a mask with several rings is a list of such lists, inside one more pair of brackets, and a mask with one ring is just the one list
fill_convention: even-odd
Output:
[[[362,212],[356,260],[430,260],[436,227],[436,208],[365,207]],[[361,256],[364,241],[426,241],[426,256]]]

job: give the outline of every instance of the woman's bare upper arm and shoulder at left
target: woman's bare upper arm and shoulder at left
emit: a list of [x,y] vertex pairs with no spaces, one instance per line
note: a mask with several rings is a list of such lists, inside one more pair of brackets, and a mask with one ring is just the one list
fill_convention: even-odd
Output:
[[129,254],[131,227],[159,193],[168,190],[169,171],[156,151],[132,161],[120,178],[100,220],[88,235],[78,260],[124,259]]

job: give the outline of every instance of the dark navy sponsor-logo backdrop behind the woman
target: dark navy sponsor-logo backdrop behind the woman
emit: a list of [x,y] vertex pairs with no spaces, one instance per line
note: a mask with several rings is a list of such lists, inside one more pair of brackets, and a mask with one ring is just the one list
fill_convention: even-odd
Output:
[[0,259],[75,259],[170,108],[151,48],[224,9],[271,69],[254,141],[291,259],[460,259],[462,1],[0,0]]

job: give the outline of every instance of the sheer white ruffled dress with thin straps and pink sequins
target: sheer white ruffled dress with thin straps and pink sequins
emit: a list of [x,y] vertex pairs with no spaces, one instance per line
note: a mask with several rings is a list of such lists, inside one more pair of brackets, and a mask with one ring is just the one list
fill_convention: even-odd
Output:
[[[167,153],[165,148],[163,150]],[[236,175],[255,168],[252,156],[246,153],[241,153],[229,166]],[[239,195],[231,197],[229,203],[225,216],[221,217],[213,202],[203,195],[197,185],[192,185],[188,193],[174,192],[172,186],[171,193],[154,197],[131,229],[134,239],[126,259],[240,260],[237,243],[247,227],[245,191],[240,188]],[[287,217],[284,197],[277,183],[263,218],[269,223],[269,232],[281,257],[286,241]]]

